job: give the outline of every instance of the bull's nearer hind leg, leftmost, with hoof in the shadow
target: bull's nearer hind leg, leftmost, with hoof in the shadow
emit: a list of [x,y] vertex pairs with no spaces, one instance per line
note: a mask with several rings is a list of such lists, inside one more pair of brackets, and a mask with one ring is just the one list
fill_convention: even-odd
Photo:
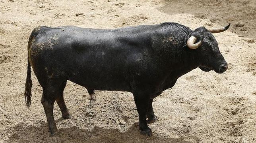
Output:
[[[42,82],[41,82],[42,83]],[[53,104],[56,98],[60,95],[60,87],[63,83],[63,79],[47,79],[45,84],[41,84],[43,87],[43,96],[41,103],[45,109],[48,127],[51,135],[58,134],[54,117],[53,117]]]

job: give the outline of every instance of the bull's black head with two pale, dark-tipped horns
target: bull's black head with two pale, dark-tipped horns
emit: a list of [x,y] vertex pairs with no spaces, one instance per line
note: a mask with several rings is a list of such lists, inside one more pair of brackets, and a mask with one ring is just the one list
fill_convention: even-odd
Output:
[[219,33],[227,30],[229,25],[223,28],[206,29],[197,28],[187,36],[187,47],[196,52],[198,67],[203,71],[214,70],[223,73],[228,65],[219,51],[218,43],[211,33]]

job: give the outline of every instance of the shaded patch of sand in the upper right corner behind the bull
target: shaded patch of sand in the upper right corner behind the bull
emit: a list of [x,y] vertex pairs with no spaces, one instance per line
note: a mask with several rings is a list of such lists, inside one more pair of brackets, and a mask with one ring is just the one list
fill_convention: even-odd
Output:
[[[255,38],[255,15],[256,5],[253,0],[165,0],[164,5],[158,8],[169,15],[176,13],[188,13],[199,19],[209,19],[211,23],[204,26],[211,26],[217,23],[225,26],[231,23],[229,31],[238,34],[240,37]],[[236,8],[235,11],[233,8]],[[246,9],[246,11],[244,11]],[[237,11],[244,11],[243,13]],[[169,19],[171,22],[172,19]],[[188,21],[188,23],[191,21]],[[195,23],[195,21],[193,22]],[[235,23],[244,24],[236,27]],[[200,25],[198,25],[199,27]],[[197,28],[197,27],[191,27]],[[246,31],[246,32],[245,32]]]

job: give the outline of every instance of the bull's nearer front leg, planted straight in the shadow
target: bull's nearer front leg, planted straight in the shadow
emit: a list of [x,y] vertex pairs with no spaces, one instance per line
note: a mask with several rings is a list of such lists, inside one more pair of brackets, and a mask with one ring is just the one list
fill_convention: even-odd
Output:
[[151,128],[147,126],[146,114],[149,107],[150,96],[145,94],[133,93],[137,111],[139,113],[139,126],[141,134],[150,137],[152,134]]

